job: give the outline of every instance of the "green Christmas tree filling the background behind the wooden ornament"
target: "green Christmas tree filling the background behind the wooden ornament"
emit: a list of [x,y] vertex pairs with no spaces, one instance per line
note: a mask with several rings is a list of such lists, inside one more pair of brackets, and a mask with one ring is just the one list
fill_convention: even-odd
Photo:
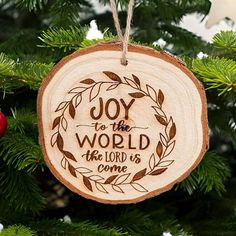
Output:
[[[124,26],[128,1],[118,3]],[[220,32],[209,44],[178,26],[184,15],[206,15],[209,7],[208,0],[136,1],[131,41],[154,47],[163,39],[156,49],[181,57],[206,88],[210,149],[169,192],[135,205],[105,205],[72,193],[48,170],[36,99],[60,59],[116,38],[111,12],[98,13],[87,0],[0,1],[0,235],[236,234],[236,32]],[[91,20],[103,39],[86,38]],[[200,51],[208,56],[197,58]]]

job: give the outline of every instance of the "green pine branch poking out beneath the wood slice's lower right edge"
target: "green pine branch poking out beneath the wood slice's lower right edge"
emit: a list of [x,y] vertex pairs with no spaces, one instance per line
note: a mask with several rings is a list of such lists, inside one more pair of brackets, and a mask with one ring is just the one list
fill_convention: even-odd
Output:
[[190,195],[197,189],[204,193],[214,190],[221,195],[226,191],[224,183],[230,176],[228,162],[214,152],[207,152],[200,165],[176,188],[181,188]]

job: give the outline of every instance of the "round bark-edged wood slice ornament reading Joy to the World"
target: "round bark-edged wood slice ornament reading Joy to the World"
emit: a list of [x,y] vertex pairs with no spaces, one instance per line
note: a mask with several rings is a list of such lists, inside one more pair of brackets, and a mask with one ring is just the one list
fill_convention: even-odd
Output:
[[204,88],[163,52],[99,44],[61,60],[38,95],[45,161],[72,191],[135,203],[186,178],[208,148]]

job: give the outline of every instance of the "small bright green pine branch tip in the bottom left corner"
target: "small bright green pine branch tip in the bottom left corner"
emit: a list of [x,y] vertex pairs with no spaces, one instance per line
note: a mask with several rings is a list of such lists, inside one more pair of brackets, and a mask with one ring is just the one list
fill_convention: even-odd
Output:
[[23,225],[12,225],[1,232],[1,236],[36,236],[35,232]]

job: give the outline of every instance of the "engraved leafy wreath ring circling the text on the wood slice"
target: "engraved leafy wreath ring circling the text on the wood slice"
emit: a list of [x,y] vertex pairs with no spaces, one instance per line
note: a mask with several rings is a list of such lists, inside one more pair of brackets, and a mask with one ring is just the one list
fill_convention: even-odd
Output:
[[[98,191],[108,194],[108,185],[110,185],[115,192],[119,193],[124,193],[124,185],[130,185],[133,189],[141,193],[148,192],[148,190],[140,183],[137,183],[137,181],[148,175],[161,175],[174,162],[174,160],[169,160],[167,157],[172,153],[175,147],[176,140],[174,140],[174,137],[176,136],[176,125],[173,118],[168,118],[163,111],[162,106],[165,97],[160,89],[157,93],[150,85],[146,85],[146,89],[144,90],[141,86],[140,79],[134,74],[132,74],[132,79],[123,77],[122,80],[120,76],[113,72],[103,71],[103,73],[111,81],[95,82],[93,79],[82,80],[80,83],[83,86],[75,87],[68,92],[68,94],[73,95],[72,98],[58,105],[55,112],[60,112],[60,115],[54,119],[52,124],[52,130],[56,130],[56,132],[51,137],[51,146],[56,146],[62,153],[61,166],[65,170],[68,169],[70,174],[75,178],[81,175],[85,187],[91,192],[93,192],[95,187]],[[71,152],[64,149],[64,140],[60,134],[60,130],[62,128],[66,131],[68,127],[65,113],[69,112],[70,117],[74,119],[76,108],[82,102],[82,94],[86,91],[90,91],[89,101],[91,102],[99,95],[101,87],[104,85],[107,85],[106,91],[114,90],[119,85],[130,86],[135,90],[135,92],[129,93],[131,97],[136,99],[141,99],[145,96],[149,97],[155,104],[152,108],[155,112],[157,122],[164,126],[165,131],[164,133],[160,133],[160,141],[158,141],[155,153],[152,153],[149,158],[149,166],[138,171],[133,176],[131,176],[131,173],[122,175],[115,174],[105,179],[100,175],[93,174],[93,171],[87,167],[74,167],[73,164],[77,162],[76,158]]]

